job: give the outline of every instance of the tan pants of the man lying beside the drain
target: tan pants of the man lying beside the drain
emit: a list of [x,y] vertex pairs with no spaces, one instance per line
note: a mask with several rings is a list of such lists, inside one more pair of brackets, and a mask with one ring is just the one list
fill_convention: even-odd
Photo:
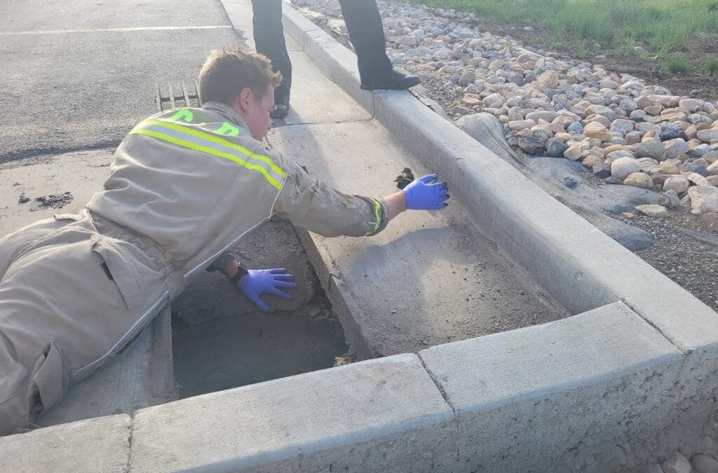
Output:
[[0,435],[27,428],[106,364],[169,296],[157,261],[88,212],[0,240]]

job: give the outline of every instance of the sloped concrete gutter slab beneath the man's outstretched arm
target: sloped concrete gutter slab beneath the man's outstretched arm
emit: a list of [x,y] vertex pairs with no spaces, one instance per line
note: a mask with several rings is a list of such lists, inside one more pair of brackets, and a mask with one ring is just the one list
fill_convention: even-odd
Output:
[[[416,176],[430,171],[374,121],[276,128],[269,141],[349,194],[388,195],[404,167]],[[312,234],[305,243],[325,289],[330,274],[346,288],[348,300],[337,301],[331,290],[330,299],[335,310],[347,304],[350,314],[337,312],[360,357],[417,352],[567,316],[458,205],[407,212],[372,238]]]

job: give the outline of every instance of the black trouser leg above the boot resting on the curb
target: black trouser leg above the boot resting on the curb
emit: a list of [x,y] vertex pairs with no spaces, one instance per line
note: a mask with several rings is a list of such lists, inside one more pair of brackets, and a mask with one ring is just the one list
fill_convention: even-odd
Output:
[[392,66],[386,55],[386,39],[376,0],[339,0],[339,4],[357,53],[362,82],[388,74]]

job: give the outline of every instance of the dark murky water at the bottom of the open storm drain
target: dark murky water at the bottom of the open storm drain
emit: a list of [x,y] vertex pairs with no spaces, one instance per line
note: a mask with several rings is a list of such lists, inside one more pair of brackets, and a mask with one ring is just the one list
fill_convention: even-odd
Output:
[[172,337],[180,398],[332,367],[347,350],[336,320],[271,314],[218,319]]

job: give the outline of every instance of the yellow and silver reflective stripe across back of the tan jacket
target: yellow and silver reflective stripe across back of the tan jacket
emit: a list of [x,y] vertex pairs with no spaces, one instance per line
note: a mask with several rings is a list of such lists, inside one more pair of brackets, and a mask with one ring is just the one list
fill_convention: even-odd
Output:
[[246,169],[262,174],[266,181],[276,189],[281,189],[284,177],[286,177],[284,169],[274,164],[269,156],[253,153],[244,146],[179,123],[146,120],[139,123],[134,130],[130,131],[130,134],[151,136],[182,148],[229,159]]

